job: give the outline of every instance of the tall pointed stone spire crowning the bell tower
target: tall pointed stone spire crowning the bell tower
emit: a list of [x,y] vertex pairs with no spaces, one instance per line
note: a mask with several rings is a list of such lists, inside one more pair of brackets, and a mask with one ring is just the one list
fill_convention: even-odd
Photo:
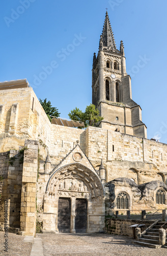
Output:
[[114,34],[112,27],[109,22],[109,17],[108,13],[106,11],[105,15],[105,21],[104,21],[104,26],[103,26],[103,32],[102,32],[102,42],[104,47],[112,47],[113,49],[117,49],[116,47],[116,42],[114,39]]

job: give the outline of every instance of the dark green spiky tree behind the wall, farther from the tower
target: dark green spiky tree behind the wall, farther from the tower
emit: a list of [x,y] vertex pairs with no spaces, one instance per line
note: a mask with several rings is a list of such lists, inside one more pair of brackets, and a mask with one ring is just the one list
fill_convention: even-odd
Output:
[[41,103],[42,108],[44,109],[44,111],[45,111],[47,117],[49,118],[50,122],[51,122],[52,117],[59,117],[60,116],[60,113],[58,112],[58,109],[54,108],[51,105],[50,101],[46,102],[46,99],[44,99],[44,100],[39,99],[39,102]]

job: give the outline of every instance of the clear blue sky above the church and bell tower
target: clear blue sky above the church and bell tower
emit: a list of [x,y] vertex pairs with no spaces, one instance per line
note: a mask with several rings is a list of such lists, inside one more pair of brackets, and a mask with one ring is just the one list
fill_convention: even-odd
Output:
[[167,143],[165,0],[1,1],[0,81],[27,78],[63,118],[76,106],[84,111],[92,102],[92,60],[105,8],[117,48],[124,42],[132,97],[143,109],[148,138]]

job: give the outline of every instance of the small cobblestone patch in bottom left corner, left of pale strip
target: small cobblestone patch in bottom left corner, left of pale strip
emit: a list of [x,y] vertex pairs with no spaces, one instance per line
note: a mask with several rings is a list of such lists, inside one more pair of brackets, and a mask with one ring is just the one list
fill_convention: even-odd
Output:
[[[4,251],[4,232],[0,232],[0,255],[3,256],[30,256],[32,244],[23,242],[24,237],[8,233],[8,252]],[[40,256],[40,255],[39,255]]]

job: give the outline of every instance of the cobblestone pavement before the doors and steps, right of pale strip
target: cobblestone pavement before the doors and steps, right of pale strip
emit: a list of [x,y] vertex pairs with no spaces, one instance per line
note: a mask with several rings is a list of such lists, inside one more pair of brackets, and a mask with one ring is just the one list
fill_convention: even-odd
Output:
[[166,256],[167,249],[132,244],[132,239],[114,234],[37,234],[44,256]]

